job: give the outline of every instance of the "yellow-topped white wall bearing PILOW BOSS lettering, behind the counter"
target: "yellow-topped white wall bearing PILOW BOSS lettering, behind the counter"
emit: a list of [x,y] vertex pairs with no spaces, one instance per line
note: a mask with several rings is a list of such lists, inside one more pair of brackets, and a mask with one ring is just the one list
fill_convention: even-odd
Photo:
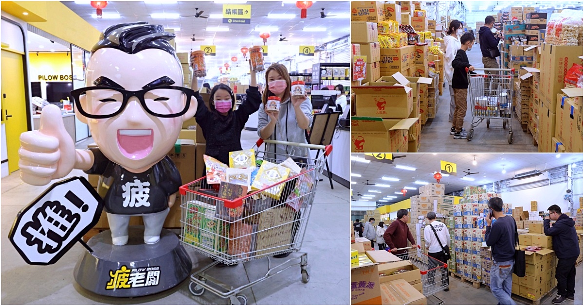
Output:
[[[71,54],[67,52],[29,53],[30,82],[72,82]],[[39,79],[39,75],[43,79]],[[57,76],[57,79],[47,79],[47,76]],[[66,78],[61,78],[66,76]]]

